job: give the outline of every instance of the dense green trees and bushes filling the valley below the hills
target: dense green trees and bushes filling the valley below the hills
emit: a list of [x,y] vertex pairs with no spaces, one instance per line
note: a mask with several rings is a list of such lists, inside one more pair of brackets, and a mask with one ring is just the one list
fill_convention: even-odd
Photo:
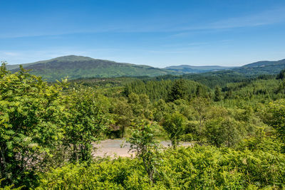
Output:
[[[3,63],[1,186],[284,189],[283,74],[46,83]],[[134,157],[93,157],[93,142],[121,137]]]

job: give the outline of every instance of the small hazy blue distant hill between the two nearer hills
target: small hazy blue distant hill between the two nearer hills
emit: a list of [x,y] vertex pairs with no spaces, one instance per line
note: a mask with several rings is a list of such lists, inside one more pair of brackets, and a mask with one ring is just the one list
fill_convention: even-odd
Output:
[[209,65],[209,66],[177,65],[177,66],[170,66],[165,69],[181,73],[206,73],[217,70],[229,70],[232,68],[233,67],[222,67],[218,65]]

